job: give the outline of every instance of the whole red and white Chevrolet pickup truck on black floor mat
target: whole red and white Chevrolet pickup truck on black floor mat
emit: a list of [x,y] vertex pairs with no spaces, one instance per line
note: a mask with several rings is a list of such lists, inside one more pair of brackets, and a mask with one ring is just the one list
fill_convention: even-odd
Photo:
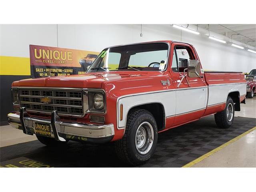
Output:
[[13,82],[8,122],[48,146],[115,141],[120,159],[138,165],[159,132],[210,114],[228,128],[245,96],[241,72],[204,72],[192,45],[146,42],[104,49],[83,75]]

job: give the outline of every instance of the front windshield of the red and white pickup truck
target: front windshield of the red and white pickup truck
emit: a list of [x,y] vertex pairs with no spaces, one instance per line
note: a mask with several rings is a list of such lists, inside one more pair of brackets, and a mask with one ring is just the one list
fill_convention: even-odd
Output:
[[103,50],[87,73],[103,71],[163,71],[167,67],[168,44],[148,43]]

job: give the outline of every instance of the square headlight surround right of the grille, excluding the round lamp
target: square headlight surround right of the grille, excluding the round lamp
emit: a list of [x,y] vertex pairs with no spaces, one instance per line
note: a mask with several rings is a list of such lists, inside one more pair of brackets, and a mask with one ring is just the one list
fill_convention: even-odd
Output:
[[[94,105],[94,96],[101,94],[103,96],[103,107],[97,109]],[[104,114],[106,112],[106,96],[104,90],[89,90],[88,91],[88,104],[89,111],[91,113],[101,113]]]

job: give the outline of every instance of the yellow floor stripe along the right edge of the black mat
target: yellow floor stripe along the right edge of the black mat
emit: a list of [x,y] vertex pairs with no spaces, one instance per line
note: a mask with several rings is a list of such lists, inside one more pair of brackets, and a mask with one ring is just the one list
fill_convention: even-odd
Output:
[[186,164],[186,165],[184,165],[184,166],[182,166],[182,167],[191,167],[191,166],[193,166],[194,164],[197,164],[198,162],[204,160],[205,158],[207,158],[207,157],[209,157],[210,155],[216,153],[217,151],[223,149],[224,147],[226,147],[226,146],[232,144],[232,143],[235,142],[236,140],[242,138],[243,136],[247,135],[248,133],[250,133],[250,132],[252,132],[252,131],[254,131],[254,130],[256,130],[256,127],[251,128],[250,130],[244,132],[243,134],[241,134],[241,135],[235,137],[234,139],[232,139],[232,140],[230,140],[230,141],[228,141],[228,142],[222,144],[221,146],[215,148],[214,150],[211,150],[210,152],[208,152],[208,153],[206,153],[206,154],[204,154],[204,155],[198,157],[197,159],[195,159],[195,160],[189,162],[188,164]]

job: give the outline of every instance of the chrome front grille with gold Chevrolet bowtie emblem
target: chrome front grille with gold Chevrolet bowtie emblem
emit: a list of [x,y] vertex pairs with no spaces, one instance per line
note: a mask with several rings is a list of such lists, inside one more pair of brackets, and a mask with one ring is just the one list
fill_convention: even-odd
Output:
[[[26,88],[19,90],[20,106],[26,110],[38,112],[52,112],[59,114],[83,116],[82,90],[44,90]],[[46,103],[43,100],[50,99]]]

